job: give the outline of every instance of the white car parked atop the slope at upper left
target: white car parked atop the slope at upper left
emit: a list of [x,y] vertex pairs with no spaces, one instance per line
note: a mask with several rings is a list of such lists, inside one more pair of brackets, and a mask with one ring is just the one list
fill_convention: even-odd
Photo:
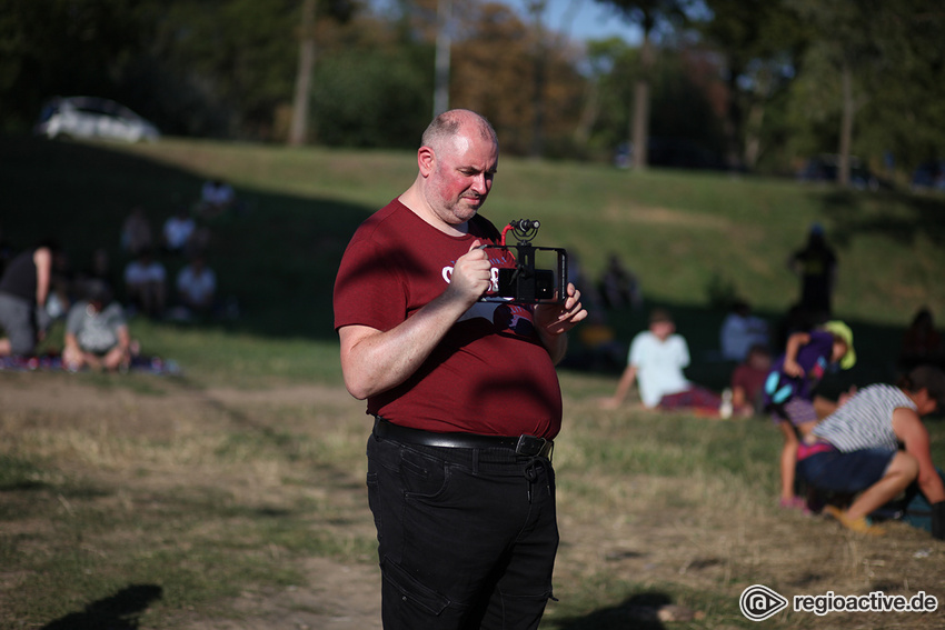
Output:
[[125,142],[155,141],[158,128],[130,109],[97,97],[57,97],[42,106],[37,136],[101,138]]

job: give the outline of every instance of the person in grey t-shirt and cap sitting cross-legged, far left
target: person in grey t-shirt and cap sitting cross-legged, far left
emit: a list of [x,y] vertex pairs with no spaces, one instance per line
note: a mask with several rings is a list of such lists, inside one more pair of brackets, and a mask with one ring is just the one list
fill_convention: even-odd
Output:
[[127,370],[131,363],[125,312],[100,281],[90,282],[87,299],[69,310],[62,363],[72,372],[86,367],[115,372]]

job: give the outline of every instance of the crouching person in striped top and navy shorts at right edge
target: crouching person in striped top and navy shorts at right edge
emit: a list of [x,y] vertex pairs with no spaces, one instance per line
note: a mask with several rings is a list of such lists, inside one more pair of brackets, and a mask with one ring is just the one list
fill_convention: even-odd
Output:
[[828,504],[824,511],[847,529],[876,536],[885,531],[867,514],[917,481],[932,506],[932,536],[945,539],[945,486],[921,420],[936,409],[945,409],[945,372],[933,366],[913,369],[898,387],[863,388],[814,428],[798,449],[797,474],[819,490],[859,493],[847,509]]

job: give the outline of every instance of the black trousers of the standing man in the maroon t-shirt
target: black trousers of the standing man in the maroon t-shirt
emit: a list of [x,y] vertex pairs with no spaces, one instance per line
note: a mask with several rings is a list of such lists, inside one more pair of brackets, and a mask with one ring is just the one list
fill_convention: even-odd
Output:
[[551,462],[375,436],[367,452],[385,630],[537,629],[558,547]]

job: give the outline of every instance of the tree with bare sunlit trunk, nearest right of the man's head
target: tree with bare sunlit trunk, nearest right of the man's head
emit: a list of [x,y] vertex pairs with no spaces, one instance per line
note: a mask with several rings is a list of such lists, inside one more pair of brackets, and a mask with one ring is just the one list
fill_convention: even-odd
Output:
[[688,0],[596,0],[613,6],[627,21],[640,27],[640,72],[634,87],[630,142],[633,146],[633,166],[644,169],[647,166],[647,137],[649,134],[649,91],[650,72],[656,59],[654,37],[657,29],[672,30],[686,20]]

